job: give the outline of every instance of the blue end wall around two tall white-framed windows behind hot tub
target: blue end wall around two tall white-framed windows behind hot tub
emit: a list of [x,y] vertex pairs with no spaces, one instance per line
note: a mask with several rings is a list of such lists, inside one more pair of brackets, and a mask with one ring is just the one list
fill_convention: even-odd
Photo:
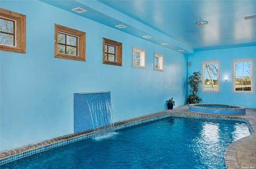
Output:
[[[195,71],[202,69],[204,61],[220,61],[220,92],[210,93],[202,92],[199,89],[198,96],[203,99],[202,103],[217,103],[243,106],[247,108],[256,108],[256,78],[254,66],[254,93],[253,94],[235,94],[233,93],[233,74],[232,62],[236,59],[254,58],[256,62],[256,46],[238,47],[216,50],[196,51],[194,54],[188,55],[188,61],[191,66],[188,67],[188,76]],[[202,74],[202,73],[201,73]],[[225,81],[225,77],[228,78]]]

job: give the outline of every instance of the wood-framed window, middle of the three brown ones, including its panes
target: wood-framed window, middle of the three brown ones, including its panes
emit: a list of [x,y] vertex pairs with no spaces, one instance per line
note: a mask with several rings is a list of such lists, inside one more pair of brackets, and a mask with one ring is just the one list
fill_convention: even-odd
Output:
[[55,24],[55,57],[85,61],[85,32]]

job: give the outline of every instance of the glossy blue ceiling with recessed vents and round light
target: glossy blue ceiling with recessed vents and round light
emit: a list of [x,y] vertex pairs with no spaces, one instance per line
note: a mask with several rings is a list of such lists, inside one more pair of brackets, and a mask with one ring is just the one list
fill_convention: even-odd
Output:
[[[110,27],[124,24],[127,27],[119,30],[140,38],[150,35],[152,38],[147,40],[159,45],[168,43],[165,47],[183,49],[183,53],[256,44],[256,19],[243,17],[256,14],[256,1],[42,1],[69,12],[82,7],[87,12],[79,15],[85,18]],[[200,20],[209,24],[196,26]]]

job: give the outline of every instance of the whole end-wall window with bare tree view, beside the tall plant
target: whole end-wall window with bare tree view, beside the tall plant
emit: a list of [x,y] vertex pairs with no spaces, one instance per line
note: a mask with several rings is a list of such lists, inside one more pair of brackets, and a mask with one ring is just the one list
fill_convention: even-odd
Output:
[[219,61],[209,61],[202,63],[203,91],[219,92],[220,70]]

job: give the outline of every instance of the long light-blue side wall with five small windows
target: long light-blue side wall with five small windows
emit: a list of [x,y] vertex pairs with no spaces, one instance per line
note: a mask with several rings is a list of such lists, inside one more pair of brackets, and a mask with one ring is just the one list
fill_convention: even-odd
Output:
[[[186,56],[43,2],[0,3],[27,15],[26,54],[0,51],[0,150],[73,133],[75,92],[111,91],[115,122],[163,111],[170,97],[185,104]],[[54,58],[54,23],[86,32],[86,62]],[[123,66],[102,64],[102,37],[123,43]],[[132,68],[133,45],[146,49],[146,69]]]

